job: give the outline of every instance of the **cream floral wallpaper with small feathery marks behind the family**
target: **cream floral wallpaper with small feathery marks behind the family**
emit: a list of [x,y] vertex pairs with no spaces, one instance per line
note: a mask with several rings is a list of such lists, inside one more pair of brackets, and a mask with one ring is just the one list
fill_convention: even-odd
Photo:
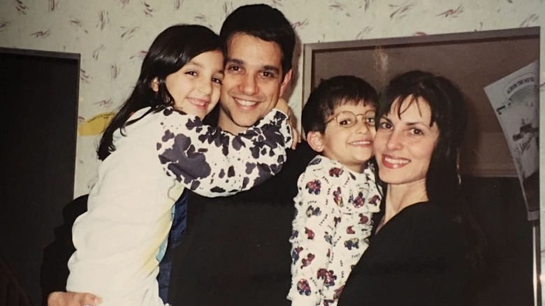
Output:
[[[94,183],[99,164],[95,148],[101,124],[130,93],[154,37],[177,23],[203,24],[219,31],[226,15],[249,3],[255,1],[0,0],[0,47],[81,54],[75,196],[86,194]],[[545,0],[263,0],[263,3],[281,10],[296,30],[300,43],[295,57],[298,71],[303,65],[305,43],[545,28]],[[543,59],[544,42],[542,38]],[[542,101],[545,101],[544,62],[540,67]],[[303,104],[303,81],[301,73],[296,75],[289,103],[298,114]],[[542,111],[540,115],[542,122],[544,114]],[[542,164],[544,161],[542,158]],[[545,177],[541,181],[545,182]],[[542,212],[542,220],[544,216]]]

